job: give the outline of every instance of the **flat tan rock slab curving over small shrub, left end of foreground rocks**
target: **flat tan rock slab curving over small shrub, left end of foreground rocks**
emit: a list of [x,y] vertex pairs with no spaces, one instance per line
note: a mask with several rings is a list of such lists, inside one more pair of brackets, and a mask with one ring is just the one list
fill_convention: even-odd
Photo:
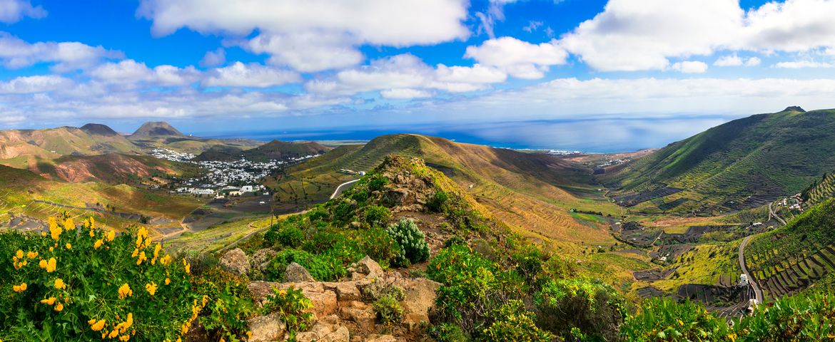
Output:
[[272,294],[272,289],[301,289],[301,293],[305,294],[307,299],[311,299],[313,308],[310,310],[316,317],[325,317],[329,314],[337,312],[337,294],[331,290],[325,289],[320,282],[306,282],[306,283],[271,283],[266,281],[253,281],[247,288],[252,294],[252,298],[256,299],[258,303],[263,304],[266,298]]

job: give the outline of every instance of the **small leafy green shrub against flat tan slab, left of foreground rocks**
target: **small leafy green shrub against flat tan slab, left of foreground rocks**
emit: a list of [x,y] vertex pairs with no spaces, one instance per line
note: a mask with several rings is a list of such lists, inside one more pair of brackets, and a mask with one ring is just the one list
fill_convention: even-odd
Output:
[[295,340],[297,332],[311,328],[313,313],[308,309],[312,307],[311,299],[307,299],[301,289],[294,289],[291,286],[286,290],[273,288],[272,294],[267,297],[261,310],[263,314],[279,313],[281,320],[287,324],[290,340]]

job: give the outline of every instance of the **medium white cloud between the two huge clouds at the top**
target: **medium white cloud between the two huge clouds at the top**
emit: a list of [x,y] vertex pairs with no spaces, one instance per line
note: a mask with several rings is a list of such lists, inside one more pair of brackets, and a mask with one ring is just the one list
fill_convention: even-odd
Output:
[[568,53],[555,41],[532,44],[513,37],[485,41],[467,47],[464,57],[498,67],[517,78],[542,78],[552,65],[564,64]]

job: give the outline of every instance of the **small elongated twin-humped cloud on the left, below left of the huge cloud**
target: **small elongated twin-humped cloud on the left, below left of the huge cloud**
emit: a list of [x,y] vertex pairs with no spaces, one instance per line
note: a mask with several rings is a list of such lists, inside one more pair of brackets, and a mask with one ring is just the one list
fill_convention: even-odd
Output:
[[138,83],[154,85],[182,86],[194,83],[200,78],[200,72],[193,67],[177,68],[171,65],[159,65],[148,68],[145,63],[125,59],[119,63],[104,63],[90,70],[90,76],[110,84],[128,87]]

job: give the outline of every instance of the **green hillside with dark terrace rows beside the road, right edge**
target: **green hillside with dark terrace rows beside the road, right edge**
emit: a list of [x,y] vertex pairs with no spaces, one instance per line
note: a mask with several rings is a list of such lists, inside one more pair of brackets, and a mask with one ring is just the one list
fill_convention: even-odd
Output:
[[835,200],[818,204],[745,250],[751,274],[767,297],[797,294],[835,270]]

